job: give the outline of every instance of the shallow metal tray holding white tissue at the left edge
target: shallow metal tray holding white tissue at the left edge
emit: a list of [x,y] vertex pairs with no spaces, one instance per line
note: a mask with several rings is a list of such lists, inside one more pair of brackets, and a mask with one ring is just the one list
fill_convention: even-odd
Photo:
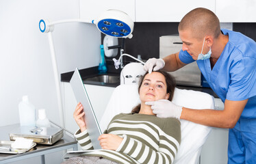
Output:
[[32,146],[28,149],[14,149],[11,148],[12,143],[14,143],[14,141],[0,141],[0,153],[21,154],[23,152],[29,151],[31,148],[34,148],[34,146],[36,146],[36,143],[32,142]]

